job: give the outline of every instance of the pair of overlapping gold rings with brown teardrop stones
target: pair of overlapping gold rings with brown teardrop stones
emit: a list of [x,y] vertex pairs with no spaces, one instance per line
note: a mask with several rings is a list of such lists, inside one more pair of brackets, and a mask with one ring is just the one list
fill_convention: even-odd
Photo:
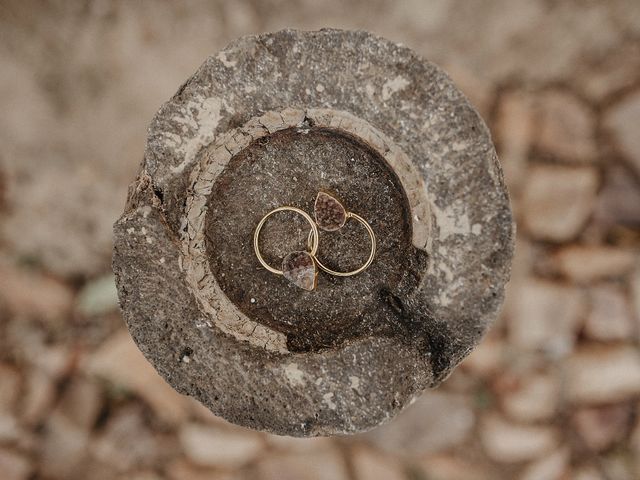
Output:
[[[262,254],[260,253],[259,240],[260,231],[262,230],[262,227],[264,226],[267,219],[271,215],[283,211],[295,212],[302,215],[305,220],[309,222],[311,231],[309,232],[309,236],[307,237],[308,250],[295,251],[286,255],[282,260],[282,269],[279,270],[267,264],[267,262],[264,260]],[[360,215],[357,215],[353,212],[348,212],[344,208],[342,203],[325,192],[318,193],[318,196],[316,197],[316,201],[314,204],[314,217],[315,219],[311,218],[311,216],[304,210],[289,206],[275,208],[267,213],[264,217],[262,217],[262,220],[260,220],[260,222],[258,223],[255,233],[253,234],[253,249],[255,250],[256,257],[258,258],[260,264],[271,273],[275,273],[276,275],[283,275],[291,283],[305,290],[313,290],[316,287],[318,269],[330,275],[335,275],[338,277],[350,277],[352,275],[357,275],[358,273],[365,271],[369,267],[369,265],[371,265],[376,255],[376,236],[373,233],[373,229],[366,222],[366,220],[364,220]],[[369,253],[369,258],[367,258],[367,261],[361,267],[350,272],[337,272],[323,265],[316,256],[316,254],[318,253],[318,244],[320,241],[320,234],[318,229],[327,232],[335,232],[341,229],[350,218],[353,218],[354,220],[360,222],[367,230],[367,233],[371,238],[371,251]]]

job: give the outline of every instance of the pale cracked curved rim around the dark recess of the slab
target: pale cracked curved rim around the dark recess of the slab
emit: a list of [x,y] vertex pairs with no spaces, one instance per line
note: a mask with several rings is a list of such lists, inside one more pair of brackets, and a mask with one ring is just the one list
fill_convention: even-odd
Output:
[[191,173],[181,220],[186,228],[181,239],[180,266],[191,292],[217,328],[237,340],[282,354],[290,353],[286,335],[251,320],[222,291],[207,259],[205,218],[213,185],[234,155],[259,138],[289,128],[304,129],[309,123],[314,127],[346,132],[385,159],[407,196],[414,246],[426,251],[430,247],[431,214],[424,181],[400,147],[368,122],[344,111],[287,108],[254,117],[241,127],[222,134],[203,149]]

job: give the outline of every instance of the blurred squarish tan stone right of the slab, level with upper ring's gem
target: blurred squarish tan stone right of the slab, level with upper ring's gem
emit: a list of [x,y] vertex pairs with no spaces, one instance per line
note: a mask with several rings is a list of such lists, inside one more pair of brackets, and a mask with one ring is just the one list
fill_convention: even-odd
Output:
[[597,188],[598,173],[591,167],[531,168],[522,199],[524,227],[539,240],[571,240],[591,215]]

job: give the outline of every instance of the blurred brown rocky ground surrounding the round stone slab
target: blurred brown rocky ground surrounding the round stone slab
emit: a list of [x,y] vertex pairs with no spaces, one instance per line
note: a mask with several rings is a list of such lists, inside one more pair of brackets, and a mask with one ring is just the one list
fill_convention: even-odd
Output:
[[[160,104],[227,42],[359,28],[444,67],[519,230],[503,314],[437,391],[295,440],[171,390],[118,313],[111,225]],[[0,1],[2,480],[640,478],[638,0]]]

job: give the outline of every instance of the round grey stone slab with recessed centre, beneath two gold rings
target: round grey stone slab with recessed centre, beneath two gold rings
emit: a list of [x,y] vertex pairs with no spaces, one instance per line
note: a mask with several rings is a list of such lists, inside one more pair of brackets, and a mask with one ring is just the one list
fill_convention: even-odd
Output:
[[[318,192],[379,250],[306,290],[261,268],[252,236]],[[366,232],[327,206],[318,258],[357,268]],[[270,265],[306,249],[305,223],[265,225]],[[315,436],[373,428],[447,377],[502,304],[514,226],[489,132],[442,70],[366,32],[286,30],[235,41],[162,106],[114,235],[159,374],[231,422]]]

